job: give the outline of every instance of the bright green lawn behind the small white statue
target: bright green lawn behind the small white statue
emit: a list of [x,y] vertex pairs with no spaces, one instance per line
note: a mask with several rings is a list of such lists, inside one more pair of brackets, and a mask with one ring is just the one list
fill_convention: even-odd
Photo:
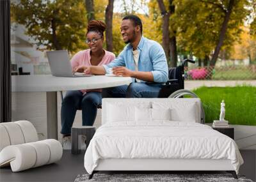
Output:
[[256,87],[200,87],[193,90],[202,100],[205,123],[220,117],[220,103],[225,100],[225,119],[232,125],[256,126]]

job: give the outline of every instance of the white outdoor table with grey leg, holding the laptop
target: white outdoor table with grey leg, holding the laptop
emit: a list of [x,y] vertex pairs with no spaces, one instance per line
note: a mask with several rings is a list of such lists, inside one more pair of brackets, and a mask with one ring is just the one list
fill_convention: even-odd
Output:
[[99,89],[130,84],[131,77],[54,77],[52,75],[13,75],[13,92],[45,91],[47,100],[47,138],[58,139],[57,91]]

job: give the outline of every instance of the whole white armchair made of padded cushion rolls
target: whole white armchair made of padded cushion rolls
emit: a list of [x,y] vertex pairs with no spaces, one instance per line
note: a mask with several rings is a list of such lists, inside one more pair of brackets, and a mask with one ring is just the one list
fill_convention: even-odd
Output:
[[0,167],[10,165],[13,172],[54,163],[63,152],[58,140],[38,141],[29,121],[0,123],[0,139]]

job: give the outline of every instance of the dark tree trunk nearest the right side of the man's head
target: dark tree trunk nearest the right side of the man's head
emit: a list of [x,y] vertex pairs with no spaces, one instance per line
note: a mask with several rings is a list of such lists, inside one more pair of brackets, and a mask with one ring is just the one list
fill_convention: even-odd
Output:
[[169,38],[169,18],[170,18],[170,13],[166,11],[166,8],[164,6],[163,0],[157,0],[157,3],[159,5],[161,15],[163,17],[163,40],[162,40],[162,45],[163,49],[165,52],[165,56],[167,58],[167,61],[170,59],[170,38]]

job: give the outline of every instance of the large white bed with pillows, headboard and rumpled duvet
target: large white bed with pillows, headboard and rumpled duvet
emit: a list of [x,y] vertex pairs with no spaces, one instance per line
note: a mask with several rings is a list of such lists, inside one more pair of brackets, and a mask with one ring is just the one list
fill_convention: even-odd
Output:
[[199,98],[103,99],[102,126],[84,155],[90,178],[97,171],[231,171],[237,178],[243,158],[236,143],[200,124],[200,104]]

